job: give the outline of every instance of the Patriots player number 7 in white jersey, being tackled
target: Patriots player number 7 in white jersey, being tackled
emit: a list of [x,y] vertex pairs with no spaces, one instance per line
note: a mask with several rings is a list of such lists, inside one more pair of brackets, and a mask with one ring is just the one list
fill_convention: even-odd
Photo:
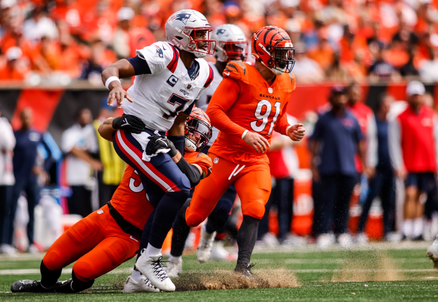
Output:
[[[213,80],[212,68],[203,57],[214,52],[215,41],[209,39],[212,28],[198,11],[187,9],[173,13],[165,28],[166,42],[153,43],[137,50],[136,57],[111,64],[102,71],[102,82],[110,90],[109,105],[117,101],[125,114],[134,115],[145,123],[146,130],[140,134],[120,129],[129,124],[127,120],[113,124],[118,128],[113,144],[117,154],[138,171],[155,208],[150,236],[141,239],[148,245],[138,258],[137,268],[155,287],[173,291],[175,285],[161,269],[162,243],[190,188],[198,184],[201,175],[184,157],[175,163],[167,153],[169,149],[148,155],[145,147],[151,135],[158,133],[164,137],[168,131],[169,139],[184,154],[185,120],[194,101]],[[119,78],[134,75],[134,84],[125,91]],[[158,271],[162,273],[159,275]]]

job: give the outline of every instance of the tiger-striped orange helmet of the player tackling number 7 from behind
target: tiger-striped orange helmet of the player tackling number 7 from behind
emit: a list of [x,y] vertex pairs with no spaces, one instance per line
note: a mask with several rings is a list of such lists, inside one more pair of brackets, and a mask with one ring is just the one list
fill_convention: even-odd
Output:
[[212,126],[207,114],[193,107],[184,127],[184,144],[187,152],[200,151],[212,138]]

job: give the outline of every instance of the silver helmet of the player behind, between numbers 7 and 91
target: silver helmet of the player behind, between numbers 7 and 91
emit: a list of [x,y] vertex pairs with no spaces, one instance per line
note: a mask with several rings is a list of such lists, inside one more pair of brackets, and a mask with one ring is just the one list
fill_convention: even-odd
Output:
[[247,59],[248,41],[239,26],[221,25],[212,34],[212,39],[216,40],[215,57],[219,62]]

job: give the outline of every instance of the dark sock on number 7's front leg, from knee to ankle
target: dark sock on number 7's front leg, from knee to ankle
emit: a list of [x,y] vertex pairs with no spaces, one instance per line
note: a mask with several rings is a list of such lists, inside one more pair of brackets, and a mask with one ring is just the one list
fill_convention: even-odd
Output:
[[172,228],[173,220],[177,217],[189,191],[176,191],[166,193],[155,209],[154,220],[149,234],[149,243],[155,248],[161,248],[167,233]]

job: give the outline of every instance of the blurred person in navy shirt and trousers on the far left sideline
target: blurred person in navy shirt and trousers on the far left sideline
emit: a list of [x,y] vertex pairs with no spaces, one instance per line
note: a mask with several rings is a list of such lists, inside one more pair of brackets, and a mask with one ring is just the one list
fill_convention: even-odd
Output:
[[[39,202],[38,178],[47,179],[47,171],[53,164],[53,159],[49,146],[47,146],[42,135],[32,130],[33,113],[32,109],[25,108],[20,113],[21,128],[14,131],[17,144],[14,148],[14,176],[15,184],[12,188],[11,203],[7,204],[7,218],[5,219],[3,230],[3,243],[12,245],[14,234],[14,218],[17,210],[18,198],[25,192],[28,203],[29,222],[27,225],[27,236],[29,239],[29,252],[39,252],[33,242],[34,231],[34,209]],[[42,144],[48,153],[45,162],[38,164],[37,149]]]

